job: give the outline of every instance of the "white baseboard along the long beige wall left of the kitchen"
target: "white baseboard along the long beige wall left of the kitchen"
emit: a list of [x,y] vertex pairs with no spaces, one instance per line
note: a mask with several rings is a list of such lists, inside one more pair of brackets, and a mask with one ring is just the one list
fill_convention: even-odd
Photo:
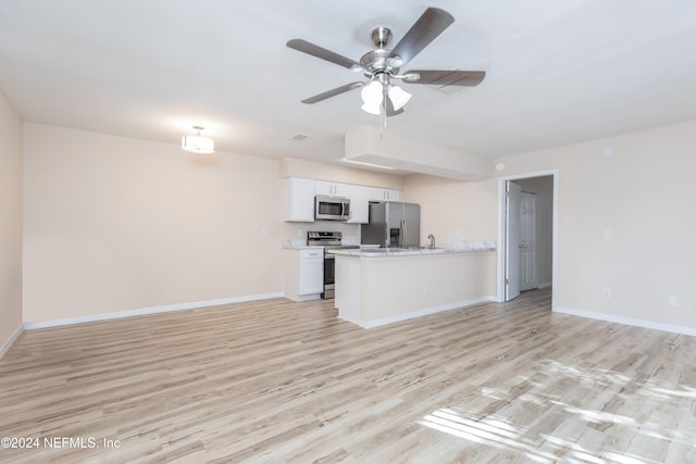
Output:
[[282,298],[283,292],[251,294],[246,297],[223,298],[220,300],[195,301],[190,303],[165,304],[162,306],[139,308],[136,310],[117,311],[113,313],[88,314],[85,316],[66,317],[63,319],[39,321],[24,323],[25,330],[34,330],[37,328],[60,327],[64,325],[92,323],[99,321],[117,319],[122,317],[146,316],[149,314],[167,313],[170,311],[196,310],[208,306],[220,306],[223,304],[244,303],[248,301],[270,300],[273,298]]

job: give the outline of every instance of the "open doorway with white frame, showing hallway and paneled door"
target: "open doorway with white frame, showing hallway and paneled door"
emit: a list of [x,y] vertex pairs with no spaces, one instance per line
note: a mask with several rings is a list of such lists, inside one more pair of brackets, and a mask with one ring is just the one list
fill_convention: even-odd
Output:
[[498,178],[498,301],[551,288],[556,308],[558,171]]

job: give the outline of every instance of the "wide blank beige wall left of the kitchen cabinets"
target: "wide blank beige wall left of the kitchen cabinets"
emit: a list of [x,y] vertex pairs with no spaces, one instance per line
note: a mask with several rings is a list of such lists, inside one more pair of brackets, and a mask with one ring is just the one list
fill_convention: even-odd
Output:
[[24,125],[24,321],[282,291],[275,160]]

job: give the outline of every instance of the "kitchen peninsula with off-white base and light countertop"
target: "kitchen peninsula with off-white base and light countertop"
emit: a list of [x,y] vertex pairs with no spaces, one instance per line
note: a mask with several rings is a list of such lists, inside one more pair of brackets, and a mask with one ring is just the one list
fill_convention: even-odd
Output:
[[492,301],[495,243],[452,249],[332,250],[338,317],[363,328]]

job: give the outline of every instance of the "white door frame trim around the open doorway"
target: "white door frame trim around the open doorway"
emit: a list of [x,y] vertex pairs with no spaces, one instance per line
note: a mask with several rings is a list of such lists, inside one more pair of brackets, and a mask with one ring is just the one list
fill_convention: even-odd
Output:
[[532,177],[551,176],[554,178],[554,205],[551,230],[551,311],[556,311],[556,296],[558,291],[558,170],[535,171],[531,173],[513,174],[498,177],[498,247],[497,247],[497,294],[498,302],[505,302],[505,276],[506,276],[506,183],[508,180],[529,179]]

